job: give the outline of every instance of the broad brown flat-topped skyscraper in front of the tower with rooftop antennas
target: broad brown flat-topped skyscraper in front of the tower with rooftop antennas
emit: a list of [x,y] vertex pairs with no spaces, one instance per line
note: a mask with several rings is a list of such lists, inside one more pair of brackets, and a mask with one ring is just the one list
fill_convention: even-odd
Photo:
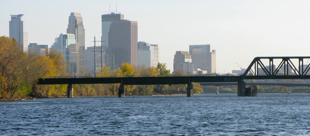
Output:
[[138,22],[112,22],[108,34],[108,53],[114,54],[115,67],[120,67],[122,62],[138,66]]

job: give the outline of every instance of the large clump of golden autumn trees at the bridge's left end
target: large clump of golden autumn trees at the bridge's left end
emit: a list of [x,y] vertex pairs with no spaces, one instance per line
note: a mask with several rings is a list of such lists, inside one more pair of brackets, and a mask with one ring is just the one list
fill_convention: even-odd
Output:
[[36,86],[38,78],[65,74],[66,65],[61,54],[35,56],[35,52],[28,54],[19,45],[15,39],[0,37],[1,97],[27,96],[42,89]]

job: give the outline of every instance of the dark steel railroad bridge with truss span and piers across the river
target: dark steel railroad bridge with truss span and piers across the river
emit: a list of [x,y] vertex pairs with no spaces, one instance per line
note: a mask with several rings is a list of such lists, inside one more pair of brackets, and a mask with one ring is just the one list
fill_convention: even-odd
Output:
[[[82,77],[82,78],[45,78],[38,79],[37,84],[68,84],[67,96],[73,97],[72,84],[120,84],[118,97],[125,97],[124,85],[151,84],[188,84],[187,96],[193,97],[192,83],[229,83],[237,82],[238,96],[242,96],[246,83],[244,79],[310,79],[308,71],[310,64],[304,65],[304,60],[310,57],[255,57],[242,75],[238,76],[148,76],[148,77]],[[269,66],[262,60],[268,61]],[[281,61],[275,67],[274,60]],[[295,65],[292,62],[295,62]],[[298,65],[296,64],[298,61]],[[282,72],[280,72],[280,70]],[[263,71],[263,72],[262,72]],[[259,73],[260,72],[260,73]]]

